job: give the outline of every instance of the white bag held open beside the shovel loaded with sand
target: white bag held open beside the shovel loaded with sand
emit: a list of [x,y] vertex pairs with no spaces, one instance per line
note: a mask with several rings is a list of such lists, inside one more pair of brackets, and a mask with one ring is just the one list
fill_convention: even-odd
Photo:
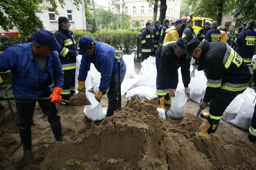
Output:
[[94,94],[87,91],[85,95],[92,104],[84,106],[85,116],[93,122],[98,122],[104,119],[106,117],[106,113],[103,112],[101,103],[95,99]]

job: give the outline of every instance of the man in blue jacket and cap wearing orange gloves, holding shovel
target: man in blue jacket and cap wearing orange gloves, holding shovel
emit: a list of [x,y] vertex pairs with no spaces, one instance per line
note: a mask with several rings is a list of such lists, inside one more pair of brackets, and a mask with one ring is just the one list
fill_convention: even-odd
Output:
[[[66,141],[61,132],[60,116],[55,103],[61,102],[63,70],[59,62],[61,48],[53,33],[41,29],[34,34],[33,42],[16,44],[0,54],[0,72],[11,70],[11,88],[14,97],[50,97],[38,100],[47,115],[56,141]],[[52,83],[54,81],[54,89]],[[16,100],[17,126],[23,145],[23,159],[32,159],[31,125],[35,100]]]

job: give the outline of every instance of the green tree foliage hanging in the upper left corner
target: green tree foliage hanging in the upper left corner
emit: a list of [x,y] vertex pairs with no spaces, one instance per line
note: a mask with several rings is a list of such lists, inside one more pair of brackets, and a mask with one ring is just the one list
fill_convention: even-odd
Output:
[[[40,5],[42,3],[43,6]],[[21,35],[31,35],[34,27],[44,28],[42,21],[35,15],[35,12],[42,12],[50,6],[53,12],[58,15],[58,4],[63,8],[65,2],[64,0],[59,0],[59,3],[54,0],[1,0],[0,25],[5,31],[17,27]],[[74,0],[73,4],[78,9],[81,0]]]

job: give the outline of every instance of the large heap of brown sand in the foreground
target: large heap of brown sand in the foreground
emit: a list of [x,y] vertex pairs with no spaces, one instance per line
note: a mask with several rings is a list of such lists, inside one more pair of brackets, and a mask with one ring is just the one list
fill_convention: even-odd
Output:
[[254,169],[255,155],[236,145],[192,136],[202,119],[158,117],[135,95],[82,138],[53,142],[40,169]]

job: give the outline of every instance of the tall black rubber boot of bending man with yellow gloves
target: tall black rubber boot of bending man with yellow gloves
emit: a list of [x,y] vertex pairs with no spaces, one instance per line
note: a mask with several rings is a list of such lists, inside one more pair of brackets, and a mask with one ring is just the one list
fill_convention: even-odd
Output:
[[106,117],[112,116],[114,114],[114,110],[116,110],[117,107],[117,96],[118,96],[118,83],[114,83],[110,81],[109,84],[109,90],[107,93],[108,97],[108,109],[107,109],[107,115]]

